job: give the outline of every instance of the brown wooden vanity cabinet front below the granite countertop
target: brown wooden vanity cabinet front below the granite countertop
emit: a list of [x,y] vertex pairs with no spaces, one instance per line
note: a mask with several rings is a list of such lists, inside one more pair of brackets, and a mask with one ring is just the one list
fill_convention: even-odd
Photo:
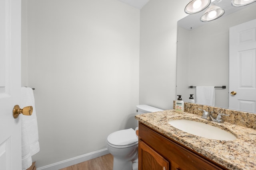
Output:
[[139,123],[139,170],[228,170]]

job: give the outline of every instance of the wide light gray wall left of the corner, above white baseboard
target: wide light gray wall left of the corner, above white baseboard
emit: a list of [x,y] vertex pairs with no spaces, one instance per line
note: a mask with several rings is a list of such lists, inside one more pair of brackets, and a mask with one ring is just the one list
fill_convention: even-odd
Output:
[[134,128],[140,10],[117,0],[22,0],[22,86],[36,88],[43,167]]

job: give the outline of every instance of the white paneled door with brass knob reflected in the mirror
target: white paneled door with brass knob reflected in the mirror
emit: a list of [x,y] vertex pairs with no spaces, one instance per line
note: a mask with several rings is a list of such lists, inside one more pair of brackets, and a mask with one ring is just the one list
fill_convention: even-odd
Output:
[[256,113],[256,20],[230,28],[229,108]]

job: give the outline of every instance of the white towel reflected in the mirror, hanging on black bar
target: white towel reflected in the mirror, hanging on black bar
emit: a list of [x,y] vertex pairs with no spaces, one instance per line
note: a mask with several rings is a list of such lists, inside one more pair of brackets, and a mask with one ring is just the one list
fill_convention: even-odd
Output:
[[196,86],[196,103],[215,106],[214,86]]

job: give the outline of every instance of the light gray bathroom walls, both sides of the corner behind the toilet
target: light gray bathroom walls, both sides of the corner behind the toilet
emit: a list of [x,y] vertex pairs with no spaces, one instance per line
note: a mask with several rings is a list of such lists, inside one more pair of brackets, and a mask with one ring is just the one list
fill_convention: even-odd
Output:
[[22,85],[36,88],[38,167],[106,148],[109,133],[136,126],[137,104],[173,107],[186,1],[141,10],[116,0],[27,2]]

